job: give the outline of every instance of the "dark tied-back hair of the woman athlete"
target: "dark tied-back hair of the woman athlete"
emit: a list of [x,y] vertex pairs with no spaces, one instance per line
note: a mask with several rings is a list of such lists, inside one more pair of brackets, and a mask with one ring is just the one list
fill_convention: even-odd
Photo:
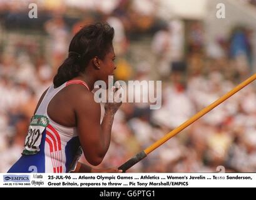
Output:
[[54,76],[54,88],[78,76],[93,57],[103,59],[112,46],[114,34],[113,27],[100,22],[84,26],[78,31],[70,42],[68,58]]

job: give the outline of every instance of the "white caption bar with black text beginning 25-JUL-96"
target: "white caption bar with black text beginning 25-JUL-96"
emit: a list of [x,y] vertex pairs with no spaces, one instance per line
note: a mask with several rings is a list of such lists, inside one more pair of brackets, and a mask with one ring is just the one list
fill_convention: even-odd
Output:
[[0,187],[256,187],[255,173],[1,173],[0,176]]

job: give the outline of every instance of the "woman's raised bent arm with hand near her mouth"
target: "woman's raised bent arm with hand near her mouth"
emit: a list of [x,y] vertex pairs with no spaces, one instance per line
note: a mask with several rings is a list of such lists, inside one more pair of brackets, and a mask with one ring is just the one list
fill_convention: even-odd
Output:
[[96,166],[101,163],[110,146],[114,116],[121,103],[107,103],[105,116],[100,124],[101,109],[92,93],[80,93],[76,99],[77,131],[87,161]]

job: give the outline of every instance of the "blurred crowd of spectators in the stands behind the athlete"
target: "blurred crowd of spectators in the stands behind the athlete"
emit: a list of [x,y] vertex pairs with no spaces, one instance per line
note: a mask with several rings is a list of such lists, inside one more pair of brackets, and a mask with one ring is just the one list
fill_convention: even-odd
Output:
[[[28,4],[38,18],[28,17]],[[120,166],[255,72],[256,1],[0,0],[0,172],[21,156],[29,119],[74,33],[115,28],[116,80],[161,80],[162,106],[124,103],[100,168]],[[85,162],[84,158],[81,161]],[[250,84],[130,172],[256,170],[256,90]]]

